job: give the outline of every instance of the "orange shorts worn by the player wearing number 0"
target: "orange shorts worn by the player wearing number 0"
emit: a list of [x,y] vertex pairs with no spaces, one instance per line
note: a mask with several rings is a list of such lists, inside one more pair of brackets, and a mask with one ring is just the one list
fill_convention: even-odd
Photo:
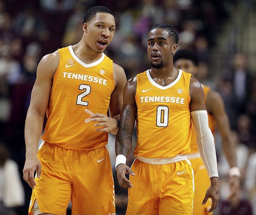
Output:
[[192,215],[193,170],[187,159],[167,164],[138,158],[131,167],[126,215]]

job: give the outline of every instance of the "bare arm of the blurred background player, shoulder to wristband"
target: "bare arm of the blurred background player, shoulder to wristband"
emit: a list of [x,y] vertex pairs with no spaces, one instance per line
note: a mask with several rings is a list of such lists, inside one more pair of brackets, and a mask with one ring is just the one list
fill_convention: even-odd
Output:
[[216,121],[218,131],[222,139],[222,148],[227,157],[230,167],[236,167],[235,143],[230,136],[228,115],[225,111],[224,102],[219,93],[211,90],[206,98],[206,109]]

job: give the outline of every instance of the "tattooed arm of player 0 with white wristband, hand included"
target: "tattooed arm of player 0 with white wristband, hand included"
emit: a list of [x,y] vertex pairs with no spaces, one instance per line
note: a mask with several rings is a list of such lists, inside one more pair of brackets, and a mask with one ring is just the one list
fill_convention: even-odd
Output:
[[124,105],[120,114],[120,126],[116,135],[116,171],[119,184],[124,188],[132,188],[132,183],[125,174],[135,175],[130,167],[125,165],[126,158],[132,150],[132,130],[137,115],[135,101],[137,80],[132,78],[124,87]]

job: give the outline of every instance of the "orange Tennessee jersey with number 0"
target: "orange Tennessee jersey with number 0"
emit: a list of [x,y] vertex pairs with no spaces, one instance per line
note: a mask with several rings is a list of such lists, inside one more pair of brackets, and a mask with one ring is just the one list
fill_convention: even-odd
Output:
[[179,70],[174,82],[161,86],[151,78],[149,70],[137,75],[135,156],[169,158],[190,152],[190,77]]

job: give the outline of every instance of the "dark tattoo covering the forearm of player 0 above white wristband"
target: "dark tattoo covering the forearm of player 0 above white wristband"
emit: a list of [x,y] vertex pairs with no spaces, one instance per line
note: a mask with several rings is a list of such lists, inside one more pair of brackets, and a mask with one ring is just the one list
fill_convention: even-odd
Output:
[[137,115],[136,104],[124,105],[120,115],[119,130],[116,134],[116,154],[128,157],[132,150],[132,130]]

